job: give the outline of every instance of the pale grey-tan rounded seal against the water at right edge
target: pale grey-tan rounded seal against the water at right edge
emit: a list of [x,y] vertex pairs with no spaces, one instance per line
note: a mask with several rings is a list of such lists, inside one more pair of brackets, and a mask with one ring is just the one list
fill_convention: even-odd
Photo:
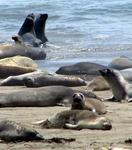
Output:
[[109,67],[117,70],[132,68],[132,59],[122,56],[112,60]]

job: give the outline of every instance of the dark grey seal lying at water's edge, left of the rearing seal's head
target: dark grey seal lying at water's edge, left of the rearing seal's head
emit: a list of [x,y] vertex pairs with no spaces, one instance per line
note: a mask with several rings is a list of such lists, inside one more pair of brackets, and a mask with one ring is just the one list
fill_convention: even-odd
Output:
[[105,66],[96,63],[80,62],[74,65],[60,67],[56,73],[65,75],[100,75],[99,70],[105,68]]

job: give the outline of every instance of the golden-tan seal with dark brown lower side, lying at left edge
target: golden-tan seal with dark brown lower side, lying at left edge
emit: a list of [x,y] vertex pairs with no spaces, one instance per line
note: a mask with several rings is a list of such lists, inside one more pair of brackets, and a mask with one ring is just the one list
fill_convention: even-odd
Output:
[[0,78],[20,75],[37,70],[37,64],[28,57],[15,56],[0,60]]

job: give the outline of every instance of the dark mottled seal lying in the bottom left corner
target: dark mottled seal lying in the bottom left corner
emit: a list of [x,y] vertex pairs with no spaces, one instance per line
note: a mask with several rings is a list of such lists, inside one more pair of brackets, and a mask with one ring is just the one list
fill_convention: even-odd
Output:
[[35,130],[14,121],[0,121],[0,140],[3,142],[40,141],[43,137]]

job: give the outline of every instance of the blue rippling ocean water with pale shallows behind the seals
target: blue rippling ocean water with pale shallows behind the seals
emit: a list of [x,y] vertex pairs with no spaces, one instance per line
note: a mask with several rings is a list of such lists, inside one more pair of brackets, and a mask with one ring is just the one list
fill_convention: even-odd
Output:
[[29,13],[48,13],[50,46],[40,68],[90,61],[107,65],[132,56],[131,0],[0,0],[0,43],[11,42]]

